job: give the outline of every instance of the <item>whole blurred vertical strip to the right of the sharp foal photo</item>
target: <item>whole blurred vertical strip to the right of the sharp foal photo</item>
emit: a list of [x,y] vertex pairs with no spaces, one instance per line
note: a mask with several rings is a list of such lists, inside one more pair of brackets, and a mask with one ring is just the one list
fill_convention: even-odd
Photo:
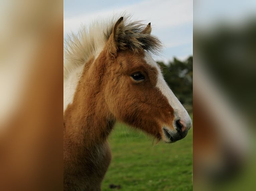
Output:
[[255,190],[253,5],[240,1],[194,2],[196,191]]

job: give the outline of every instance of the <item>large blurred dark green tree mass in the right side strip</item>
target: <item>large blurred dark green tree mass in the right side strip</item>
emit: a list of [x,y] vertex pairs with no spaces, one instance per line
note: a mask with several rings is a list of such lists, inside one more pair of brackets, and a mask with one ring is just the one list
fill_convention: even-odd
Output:
[[[242,23],[242,22],[241,22]],[[256,121],[256,20],[219,23],[210,32],[197,30],[194,46],[214,83],[239,110]]]

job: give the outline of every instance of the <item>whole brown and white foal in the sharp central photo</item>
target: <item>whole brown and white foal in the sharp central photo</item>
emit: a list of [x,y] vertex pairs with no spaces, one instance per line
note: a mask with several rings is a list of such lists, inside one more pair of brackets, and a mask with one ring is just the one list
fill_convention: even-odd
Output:
[[123,17],[70,36],[64,68],[65,190],[101,189],[111,160],[107,137],[117,120],[167,143],[186,136],[191,119],[149,54],[159,48],[150,23],[144,27]]

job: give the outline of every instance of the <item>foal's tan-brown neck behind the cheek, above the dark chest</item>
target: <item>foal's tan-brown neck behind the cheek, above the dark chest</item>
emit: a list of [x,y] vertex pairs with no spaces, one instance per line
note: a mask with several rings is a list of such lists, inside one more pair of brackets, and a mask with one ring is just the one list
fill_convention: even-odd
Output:
[[104,64],[104,57],[86,63],[73,103],[64,113],[65,136],[80,145],[102,144],[116,121],[104,98]]

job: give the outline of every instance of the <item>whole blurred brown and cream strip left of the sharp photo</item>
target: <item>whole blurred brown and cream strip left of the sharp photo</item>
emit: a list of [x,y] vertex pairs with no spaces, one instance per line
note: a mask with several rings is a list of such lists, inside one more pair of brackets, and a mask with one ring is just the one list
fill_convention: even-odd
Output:
[[63,2],[0,14],[0,190],[63,190]]

